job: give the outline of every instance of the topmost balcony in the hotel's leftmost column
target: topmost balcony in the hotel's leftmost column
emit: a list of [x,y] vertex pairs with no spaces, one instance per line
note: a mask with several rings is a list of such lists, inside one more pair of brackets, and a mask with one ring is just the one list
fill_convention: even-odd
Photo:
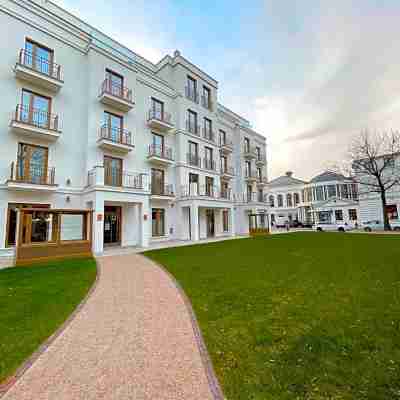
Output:
[[18,79],[32,83],[35,86],[58,92],[64,85],[61,66],[39,56],[33,56],[22,49],[14,67]]

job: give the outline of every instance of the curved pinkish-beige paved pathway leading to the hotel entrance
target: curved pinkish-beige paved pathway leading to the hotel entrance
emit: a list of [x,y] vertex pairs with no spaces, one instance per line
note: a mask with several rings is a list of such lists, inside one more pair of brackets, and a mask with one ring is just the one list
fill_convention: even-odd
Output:
[[87,303],[2,400],[221,398],[170,276],[141,255],[98,262]]

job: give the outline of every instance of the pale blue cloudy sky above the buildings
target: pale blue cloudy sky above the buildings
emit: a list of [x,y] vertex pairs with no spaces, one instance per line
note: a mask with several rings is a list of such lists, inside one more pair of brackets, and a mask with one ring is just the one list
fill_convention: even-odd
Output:
[[268,175],[310,179],[365,129],[400,129],[398,0],[55,0],[150,61],[175,49],[267,138]]

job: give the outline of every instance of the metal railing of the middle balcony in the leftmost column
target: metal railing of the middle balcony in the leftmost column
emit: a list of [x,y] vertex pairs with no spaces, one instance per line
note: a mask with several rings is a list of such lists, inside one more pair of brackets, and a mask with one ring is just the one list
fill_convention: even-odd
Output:
[[60,131],[58,115],[46,111],[18,104],[15,108],[13,121],[21,124],[34,126],[36,128]]

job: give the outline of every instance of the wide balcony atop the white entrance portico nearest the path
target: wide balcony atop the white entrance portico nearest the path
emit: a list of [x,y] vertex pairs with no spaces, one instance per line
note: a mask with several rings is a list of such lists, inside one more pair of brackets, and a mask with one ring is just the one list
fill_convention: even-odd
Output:
[[88,187],[108,187],[110,190],[149,190],[147,174],[134,173],[119,168],[97,166],[88,172]]

